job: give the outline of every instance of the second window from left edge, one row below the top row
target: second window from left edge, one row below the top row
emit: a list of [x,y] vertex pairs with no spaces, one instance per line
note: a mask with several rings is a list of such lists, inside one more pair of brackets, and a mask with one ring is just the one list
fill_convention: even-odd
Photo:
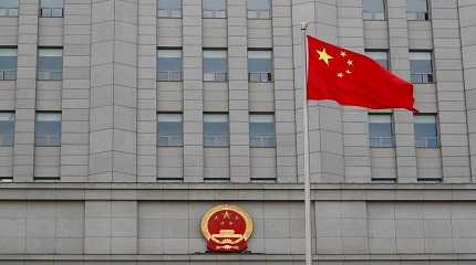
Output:
[[63,50],[38,50],[38,80],[63,78]]

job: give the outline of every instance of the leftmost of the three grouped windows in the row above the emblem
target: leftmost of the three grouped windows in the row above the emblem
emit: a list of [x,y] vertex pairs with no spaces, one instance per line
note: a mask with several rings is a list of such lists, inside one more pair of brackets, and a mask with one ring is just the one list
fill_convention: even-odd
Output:
[[182,114],[159,113],[157,115],[157,146],[183,145]]

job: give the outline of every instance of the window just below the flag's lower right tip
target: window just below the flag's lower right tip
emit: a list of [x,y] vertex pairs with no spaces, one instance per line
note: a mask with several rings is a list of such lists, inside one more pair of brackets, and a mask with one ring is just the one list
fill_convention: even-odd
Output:
[[435,115],[416,115],[415,146],[417,148],[438,148],[438,134]]

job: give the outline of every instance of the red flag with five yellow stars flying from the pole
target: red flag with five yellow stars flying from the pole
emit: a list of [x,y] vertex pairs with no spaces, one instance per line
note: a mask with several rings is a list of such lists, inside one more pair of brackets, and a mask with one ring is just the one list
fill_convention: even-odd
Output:
[[413,85],[372,59],[308,35],[308,99],[416,113]]

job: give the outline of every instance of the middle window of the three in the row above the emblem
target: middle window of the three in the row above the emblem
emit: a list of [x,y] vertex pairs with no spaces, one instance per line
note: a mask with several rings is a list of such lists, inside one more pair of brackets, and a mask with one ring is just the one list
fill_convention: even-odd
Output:
[[229,147],[228,114],[204,114],[204,146]]

